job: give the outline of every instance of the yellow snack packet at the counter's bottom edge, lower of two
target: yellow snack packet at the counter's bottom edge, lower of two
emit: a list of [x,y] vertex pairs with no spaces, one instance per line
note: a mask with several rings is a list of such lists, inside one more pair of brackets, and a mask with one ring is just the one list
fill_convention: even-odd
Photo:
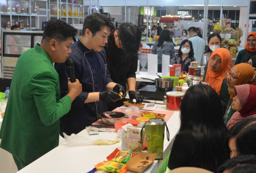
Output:
[[123,173],[127,171],[127,166],[123,163],[117,163],[112,161],[103,161],[95,165],[95,168],[97,170],[102,170],[106,172],[117,172],[117,173]]

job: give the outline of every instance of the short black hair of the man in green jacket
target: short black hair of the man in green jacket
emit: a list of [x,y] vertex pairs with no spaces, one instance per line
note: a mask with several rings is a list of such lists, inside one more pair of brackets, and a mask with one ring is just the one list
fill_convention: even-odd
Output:
[[51,19],[47,22],[42,40],[46,38],[56,39],[57,41],[66,41],[68,37],[74,37],[77,29],[60,19]]

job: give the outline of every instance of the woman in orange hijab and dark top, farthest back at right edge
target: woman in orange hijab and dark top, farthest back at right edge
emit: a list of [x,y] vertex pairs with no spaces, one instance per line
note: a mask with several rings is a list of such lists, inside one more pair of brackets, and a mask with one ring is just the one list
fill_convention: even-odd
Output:
[[247,36],[247,42],[245,45],[245,49],[238,52],[236,63],[247,62],[249,57],[256,55],[256,32],[251,32]]

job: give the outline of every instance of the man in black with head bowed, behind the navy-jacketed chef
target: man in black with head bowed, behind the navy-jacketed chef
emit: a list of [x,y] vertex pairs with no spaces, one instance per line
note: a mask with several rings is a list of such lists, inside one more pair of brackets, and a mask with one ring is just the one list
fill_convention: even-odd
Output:
[[[135,92],[136,74],[138,65],[138,50],[140,47],[141,32],[138,26],[131,23],[123,23],[109,36],[106,56],[110,77],[114,82],[123,86],[126,91],[126,83],[129,88],[131,102],[143,101],[143,96]],[[125,99],[108,103],[108,111],[122,106]]]

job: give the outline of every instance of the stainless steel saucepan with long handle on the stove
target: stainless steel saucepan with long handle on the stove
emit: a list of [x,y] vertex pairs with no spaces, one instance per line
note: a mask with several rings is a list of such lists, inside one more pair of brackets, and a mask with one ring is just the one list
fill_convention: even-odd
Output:
[[171,78],[156,78],[155,80],[150,78],[142,79],[152,80],[153,82],[155,82],[157,90],[170,91],[174,89],[174,79]]

